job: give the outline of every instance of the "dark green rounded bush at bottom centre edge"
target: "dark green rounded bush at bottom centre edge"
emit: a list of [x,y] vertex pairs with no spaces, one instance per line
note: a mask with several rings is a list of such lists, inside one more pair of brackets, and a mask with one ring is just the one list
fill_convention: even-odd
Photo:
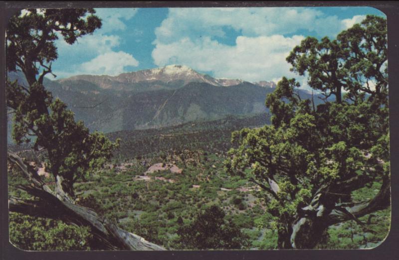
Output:
[[185,249],[243,249],[248,237],[232,222],[224,220],[224,212],[211,206],[196,220],[178,229],[180,245]]

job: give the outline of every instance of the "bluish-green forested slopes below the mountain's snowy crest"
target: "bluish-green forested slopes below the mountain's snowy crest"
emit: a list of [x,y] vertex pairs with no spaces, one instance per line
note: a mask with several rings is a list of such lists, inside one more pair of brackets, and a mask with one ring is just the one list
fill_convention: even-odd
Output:
[[264,100],[272,91],[248,82],[228,88],[190,82],[181,88],[140,92],[101,89],[80,80],[68,82],[73,83],[76,89],[69,85],[64,88],[65,85],[54,81],[46,81],[45,86],[67,103],[76,119],[83,120],[90,130],[105,132],[265,113]]

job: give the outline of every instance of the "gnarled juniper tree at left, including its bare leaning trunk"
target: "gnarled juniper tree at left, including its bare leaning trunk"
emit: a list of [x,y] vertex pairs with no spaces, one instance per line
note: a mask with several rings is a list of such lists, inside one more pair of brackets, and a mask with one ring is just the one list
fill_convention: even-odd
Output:
[[25,9],[9,19],[6,69],[21,72],[27,81],[27,85],[6,83],[7,107],[14,114],[12,136],[17,144],[31,143],[33,149],[46,152],[45,170],[56,182],[53,191],[33,167],[8,151],[9,162],[30,182],[18,188],[32,195],[31,199],[10,196],[9,210],[87,226],[95,248],[164,250],[75,203],[73,183],[103,165],[118,142],[100,132],[90,133],[82,122],[76,122],[65,103],[45,89],[43,80],[52,74],[51,63],[58,57],[55,40],[62,37],[73,44],[100,28],[101,20],[94,13],[87,8]]

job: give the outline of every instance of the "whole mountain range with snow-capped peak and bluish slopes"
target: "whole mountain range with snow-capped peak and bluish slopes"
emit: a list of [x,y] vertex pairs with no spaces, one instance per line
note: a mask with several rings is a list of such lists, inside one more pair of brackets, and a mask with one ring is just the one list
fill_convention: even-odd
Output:
[[[26,84],[21,75],[9,73],[8,78]],[[90,130],[104,132],[265,114],[266,95],[275,88],[274,83],[266,81],[216,79],[181,65],[118,76],[45,79],[43,84],[68,105],[76,120],[82,120]],[[304,91],[299,94],[311,98]]]

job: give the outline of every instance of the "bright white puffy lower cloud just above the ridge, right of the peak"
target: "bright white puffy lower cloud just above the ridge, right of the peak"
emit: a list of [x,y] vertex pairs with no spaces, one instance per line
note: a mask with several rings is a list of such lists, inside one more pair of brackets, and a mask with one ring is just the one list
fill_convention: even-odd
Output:
[[183,38],[170,44],[157,44],[152,56],[158,66],[185,64],[200,71],[212,71],[215,77],[248,81],[293,76],[285,61],[302,36],[239,36],[235,46],[221,44],[209,37],[200,42]]

